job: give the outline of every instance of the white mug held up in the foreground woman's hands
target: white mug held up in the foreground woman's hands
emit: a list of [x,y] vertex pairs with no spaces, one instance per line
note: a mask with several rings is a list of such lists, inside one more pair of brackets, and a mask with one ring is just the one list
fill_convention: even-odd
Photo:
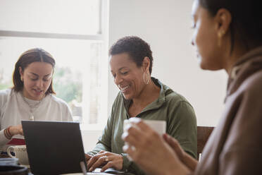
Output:
[[[164,133],[166,133],[166,121],[158,121],[158,120],[143,120],[143,121],[150,128],[156,131],[156,133],[158,133],[159,135],[163,135]],[[133,123],[130,120],[125,119],[123,125],[123,131],[125,132],[130,125],[133,125]],[[125,145],[126,144],[127,143],[125,143]],[[131,147],[131,148],[135,150],[135,147]],[[130,161],[132,161],[132,158],[129,157],[128,155],[127,158],[130,159]]]

